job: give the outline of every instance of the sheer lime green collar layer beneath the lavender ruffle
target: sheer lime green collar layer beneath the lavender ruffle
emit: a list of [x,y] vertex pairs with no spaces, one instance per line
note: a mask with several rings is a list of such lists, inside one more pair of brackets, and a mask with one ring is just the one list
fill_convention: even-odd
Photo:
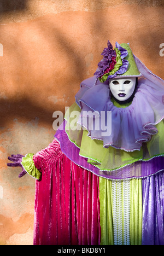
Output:
[[[113,101],[114,102],[114,101]],[[120,105],[114,102],[116,107],[125,108],[131,103]],[[73,112],[75,111],[75,112]],[[113,147],[104,148],[103,141],[91,139],[87,136],[87,130],[82,130],[77,124],[81,109],[74,103],[66,112],[65,119],[67,120],[66,132],[67,135],[77,147],[80,148],[80,155],[87,158],[88,162],[99,169],[112,171],[126,165],[133,164],[136,161],[148,161],[155,156],[164,155],[164,122],[163,120],[156,125],[158,133],[152,136],[151,141],[143,143],[140,150],[134,152],[125,152],[121,149]],[[75,115],[74,115],[75,114]]]

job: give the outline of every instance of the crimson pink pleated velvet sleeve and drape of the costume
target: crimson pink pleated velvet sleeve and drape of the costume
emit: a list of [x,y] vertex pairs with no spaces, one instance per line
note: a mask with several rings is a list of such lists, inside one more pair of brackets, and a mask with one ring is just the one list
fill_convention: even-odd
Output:
[[34,245],[99,245],[98,177],[69,160],[56,139],[33,160],[42,172],[36,181]]

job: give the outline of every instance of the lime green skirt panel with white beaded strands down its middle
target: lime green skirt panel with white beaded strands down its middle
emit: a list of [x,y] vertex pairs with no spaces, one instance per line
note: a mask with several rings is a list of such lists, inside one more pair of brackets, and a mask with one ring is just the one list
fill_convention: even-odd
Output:
[[99,201],[101,245],[141,245],[142,179],[110,181],[99,177]]

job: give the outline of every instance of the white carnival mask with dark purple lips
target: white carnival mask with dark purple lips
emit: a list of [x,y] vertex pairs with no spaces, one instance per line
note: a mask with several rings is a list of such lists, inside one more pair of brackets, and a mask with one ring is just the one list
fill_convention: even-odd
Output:
[[136,77],[133,78],[113,78],[109,82],[109,88],[116,100],[126,101],[134,92]]

